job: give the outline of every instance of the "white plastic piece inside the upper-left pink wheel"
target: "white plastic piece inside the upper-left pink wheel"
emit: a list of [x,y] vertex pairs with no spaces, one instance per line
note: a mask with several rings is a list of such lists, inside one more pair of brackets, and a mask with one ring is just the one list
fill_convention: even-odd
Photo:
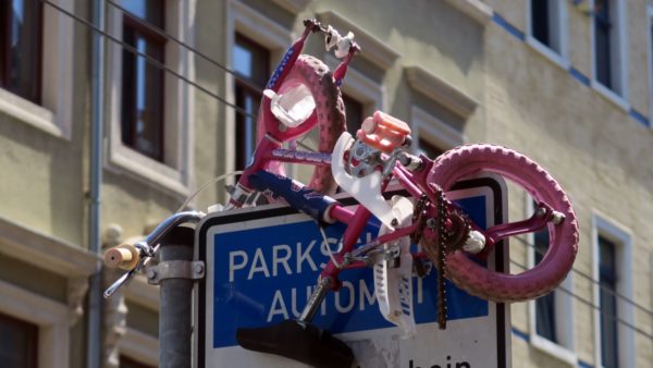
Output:
[[310,89],[303,84],[297,84],[279,95],[272,89],[266,89],[263,95],[272,100],[270,102],[272,114],[287,127],[304,123],[316,109],[316,100]]

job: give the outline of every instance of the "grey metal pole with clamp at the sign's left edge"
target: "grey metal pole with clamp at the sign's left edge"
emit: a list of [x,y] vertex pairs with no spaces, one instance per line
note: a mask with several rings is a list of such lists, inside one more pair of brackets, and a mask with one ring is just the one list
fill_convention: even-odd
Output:
[[159,266],[156,270],[148,270],[150,281],[160,278],[159,367],[161,368],[190,368],[192,296],[195,280],[180,269],[198,266],[192,263],[194,236],[193,229],[174,229],[161,244]]

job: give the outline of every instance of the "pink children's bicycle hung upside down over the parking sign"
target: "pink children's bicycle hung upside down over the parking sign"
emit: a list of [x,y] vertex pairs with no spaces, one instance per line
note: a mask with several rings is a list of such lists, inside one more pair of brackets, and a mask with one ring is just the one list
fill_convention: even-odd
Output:
[[[341,222],[346,230],[338,250],[329,254],[299,318],[272,327],[241,329],[238,343],[313,366],[349,367],[354,359],[349,347],[322,333],[311,321],[329,291],[341,287],[338,274],[352,268],[374,269],[380,311],[406,336],[416,333],[411,283],[407,280],[414,272],[423,275],[429,263],[435,266],[439,275],[438,321],[442,329],[446,326],[445,278],[469,294],[500,303],[537,298],[556,287],[571,270],[578,250],[576,217],[557,182],[528,157],[494,145],[461,146],[435,159],[410,155],[409,126],[380,111],[367,118],[353,137],[345,132],[340,86],[360,49],[352,34],[342,37],[315,20],[305,21],[305,26],[268,83],[258,115],[257,149],[223,210],[252,206],[262,195],[268,201],[285,201],[312,217],[324,238],[323,228],[330,224]],[[336,47],[336,57],[343,59],[333,74],[320,60],[300,54],[308,36],[315,33],[324,35],[328,49]],[[318,151],[293,148],[294,139],[316,126]],[[284,144],[291,148],[284,148]],[[285,177],[285,162],[312,165],[309,184]],[[500,174],[526,189],[537,203],[533,216],[486,230],[478,226],[447,199],[446,193],[456,182],[479,171]],[[390,186],[401,187],[406,195],[386,198]],[[333,199],[336,188],[354,197],[359,206],[350,210]],[[138,272],[171,229],[197,222],[202,216],[177,212],[145,241],[109,249],[106,263],[128,272],[104,295],[113,294]],[[381,223],[378,236],[357,245],[372,217]],[[497,242],[544,228],[549,230],[550,246],[532,269],[505,274],[477,261],[492,253]],[[309,348],[296,348],[295,342]]]

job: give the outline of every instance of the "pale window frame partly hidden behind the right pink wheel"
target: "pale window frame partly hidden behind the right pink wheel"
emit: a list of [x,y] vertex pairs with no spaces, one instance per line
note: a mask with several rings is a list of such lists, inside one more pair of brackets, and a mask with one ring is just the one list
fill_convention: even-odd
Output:
[[[526,199],[526,218],[530,218],[534,212],[534,204],[530,195],[525,194]],[[529,269],[535,265],[535,238],[533,233],[526,235],[526,241],[532,246],[528,247],[527,263]],[[537,349],[550,354],[557,359],[565,361],[569,366],[578,365],[578,356],[576,355],[575,346],[575,303],[574,303],[574,272],[569,272],[567,278],[558,286],[565,291],[555,290],[555,328],[558,343],[553,342],[540,334],[537,330],[537,306],[535,300],[528,302],[528,323],[530,342]]]

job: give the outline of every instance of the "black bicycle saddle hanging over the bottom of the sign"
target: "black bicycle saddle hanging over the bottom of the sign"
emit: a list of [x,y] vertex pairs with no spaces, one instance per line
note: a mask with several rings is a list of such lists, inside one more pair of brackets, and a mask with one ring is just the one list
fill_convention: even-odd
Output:
[[237,329],[236,341],[246,349],[284,356],[318,368],[349,368],[354,363],[349,346],[329,331],[294,320]]

